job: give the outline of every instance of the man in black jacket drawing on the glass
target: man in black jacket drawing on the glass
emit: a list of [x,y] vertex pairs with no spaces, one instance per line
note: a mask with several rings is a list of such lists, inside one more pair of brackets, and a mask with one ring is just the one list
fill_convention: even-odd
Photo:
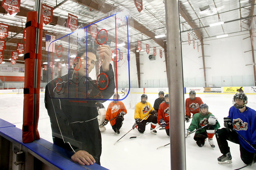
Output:
[[[108,100],[115,89],[111,49],[101,45],[97,50],[87,47],[79,51],[74,69],[52,79],[45,88],[53,143],[75,152],[71,159],[82,165],[100,165],[101,135],[96,103]],[[92,80],[88,74],[94,68],[97,54],[102,65],[97,80]]]

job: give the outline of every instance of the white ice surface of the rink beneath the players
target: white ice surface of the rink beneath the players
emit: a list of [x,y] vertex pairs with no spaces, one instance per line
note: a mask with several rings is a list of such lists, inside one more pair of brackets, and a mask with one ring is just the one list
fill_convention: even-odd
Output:
[[[138,94],[137,96],[140,96]],[[234,94],[197,94],[204,103],[209,106],[209,111],[218,118],[221,128],[223,128],[223,117],[228,115],[228,110],[232,106],[232,98]],[[256,95],[248,94],[248,107],[256,109]],[[148,102],[154,105],[157,94],[148,94]],[[157,135],[148,133],[140,138],[129,139],[131,136],[141,135],[137,129],[133,129],[119,142],[113,145],[120,137],[132,129],[134,123],[133,103],[139,102],[140,97],[135,97],[133,101],[124,100],[124,104],[128,109],[127,115],[124,116],[124,124],[117,135],[111,128],[110,123],[106,125],[107,130],[102,132],[102,155],[101,165],[110,170],[169,170],[170,168],[170,145],[156,150],[157,147],[168,144],[169,137],[165,130],[157,130]],[[188,94],[185,94],[185,99]],[[170,97],[170,102],[173,99]],[[109,101],[104,103],[108,107]],[[131,104],[132,103],[132,104]],[[23,114],[23,94],[0,94],[0,118],[22,128]],[[170,117],[171,119],[172,117]],[[190,122],[185,122],[185,128],[188,128]],[[52,142],[50,119],[44,107],[44,93],[40,93],[40,116],[38,130],[40,137]],[[146,126],[146,131],[150,130],[150,125]],[[144,132],[144,133],[145,133]],[[171,134],[172,135],[172,134]],[[198,147],[193,139],[194,134],[190,138],[186,138],[186,168],[187,170],[198,169],[236,169],[244,166],[240,158],[239,145],[229,143],[232,164],[219,165],[217,158],[221,156],[216,138],[213,138],[215,149],[212,150],[208,140],[203,147]],[[256,169],[256,163],[253,166],[244,169]]]

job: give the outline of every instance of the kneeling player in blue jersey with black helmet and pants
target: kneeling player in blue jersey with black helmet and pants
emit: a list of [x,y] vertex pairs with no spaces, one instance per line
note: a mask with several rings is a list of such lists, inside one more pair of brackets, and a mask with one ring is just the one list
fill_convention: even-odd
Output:
[[236,93],[228,117],[224,117],[224,127],[216,131],[216,139],[223,154],[219,164],[232,163],[227,140],[240,145],[240,157],[246,165],[256,162],[256,111],[246,107],[247,96]]

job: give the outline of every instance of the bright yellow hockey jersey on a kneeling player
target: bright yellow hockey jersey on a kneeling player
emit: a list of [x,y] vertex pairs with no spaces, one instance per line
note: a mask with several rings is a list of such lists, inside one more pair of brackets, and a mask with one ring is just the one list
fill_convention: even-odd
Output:
[[[154,108],[151,106],[151,104],[149,102],[146,102],[145,104],[139,102],[136,104],[135,106],[135,110],[134,110],[134,119],[144,119],[151,110],[154,110]],[[148,117],[144,120],[147,120]]]

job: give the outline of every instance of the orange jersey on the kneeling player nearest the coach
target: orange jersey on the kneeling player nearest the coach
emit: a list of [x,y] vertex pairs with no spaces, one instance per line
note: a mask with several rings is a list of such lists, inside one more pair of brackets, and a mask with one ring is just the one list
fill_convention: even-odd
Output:
[[[109,103],[108,105],[108,109],[106,112],[106,119],[110,120],[113,119],[114,117],[116,117],[121,111],[123,111],[125,114],[127,113],[127,110],[124,106],[124,103],[122,101],[117,101],[116,103],[114,103],[113,101],[111,103]],[[113,126],[114,124],[116,124],[116,119],[113,119],[112,121],[110,121],[111,126]]]

